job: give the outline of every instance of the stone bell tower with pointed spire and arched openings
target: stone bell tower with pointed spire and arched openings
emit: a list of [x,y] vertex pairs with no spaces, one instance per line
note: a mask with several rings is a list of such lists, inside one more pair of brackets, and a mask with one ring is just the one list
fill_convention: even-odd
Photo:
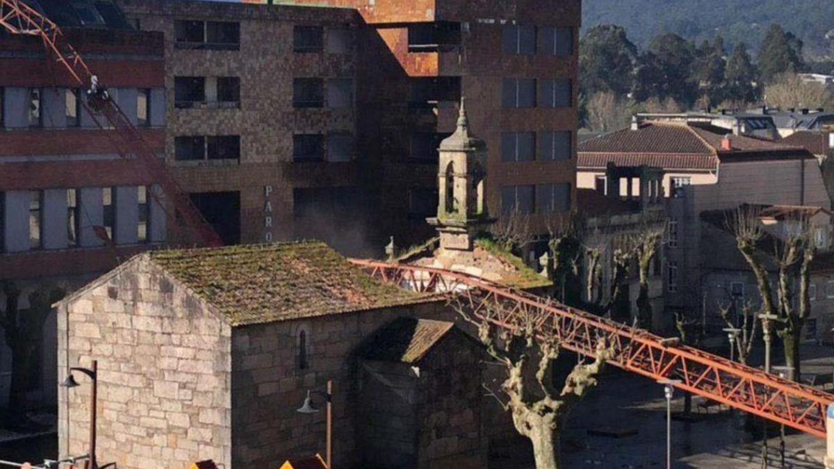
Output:
[[427,219],[440,234],[440,250],[472,250],[475,236],[495,219],[486,208],[486,144],[470,134],[465,99],[455,134],[440,142],[437,217]]

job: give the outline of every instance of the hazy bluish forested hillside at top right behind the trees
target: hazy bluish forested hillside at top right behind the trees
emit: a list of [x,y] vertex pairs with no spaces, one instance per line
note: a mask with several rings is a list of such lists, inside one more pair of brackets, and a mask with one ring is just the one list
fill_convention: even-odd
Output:
[[619,24],[640,48],[659,33],[700,42],[720,32],[728,48],[744,41],[756,51],[767,27],[780,23],[805,42],[808,58],[834,58],[834,40],[826,39],[834,31],[831,0],[585,0],[582,8],[583,28]]

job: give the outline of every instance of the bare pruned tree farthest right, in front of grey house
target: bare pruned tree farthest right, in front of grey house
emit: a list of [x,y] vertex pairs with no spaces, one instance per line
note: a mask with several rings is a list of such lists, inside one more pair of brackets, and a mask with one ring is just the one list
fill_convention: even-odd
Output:
[[[802,326],[811,314],[811,262],[816,255],[816,242],[811,228],[811,219],[796,210],[781,220],[784,228],[773,238],[773,249],[769,254],[776,261],[776,292],[771,287],[765,258],[757,255],[764,244],[766,233],[761,224],[761,209],[741,206],[727,220],[727,226],[736,236],[736,245],[741,255],[756,276],[756,285],[761,296],[761,312],[779,316],[776,333],[785,345],[785,363],[791,369],[791,380],[800,374],[799,345]],[[798,284],[799,300],[794,301],[795,283]]]

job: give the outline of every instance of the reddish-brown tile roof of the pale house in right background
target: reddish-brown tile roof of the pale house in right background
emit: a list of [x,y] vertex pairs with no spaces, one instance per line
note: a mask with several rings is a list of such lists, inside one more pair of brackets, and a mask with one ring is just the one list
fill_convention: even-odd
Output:
[[732,149],[721,144],[728,129],[708,124],[649,122],[579,144],[579,168],[656,166],[663,169],[716,169],[719,163],[772,159],[808,159],[806,149],[769,140],[729,135]]

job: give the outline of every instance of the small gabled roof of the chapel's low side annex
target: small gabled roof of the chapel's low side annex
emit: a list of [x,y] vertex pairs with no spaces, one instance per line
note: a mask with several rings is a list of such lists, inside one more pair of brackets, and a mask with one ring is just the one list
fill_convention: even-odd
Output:
[[442,320],[398,318],[364,345],[364,358],[414,364],[422,360],[455,325]]

